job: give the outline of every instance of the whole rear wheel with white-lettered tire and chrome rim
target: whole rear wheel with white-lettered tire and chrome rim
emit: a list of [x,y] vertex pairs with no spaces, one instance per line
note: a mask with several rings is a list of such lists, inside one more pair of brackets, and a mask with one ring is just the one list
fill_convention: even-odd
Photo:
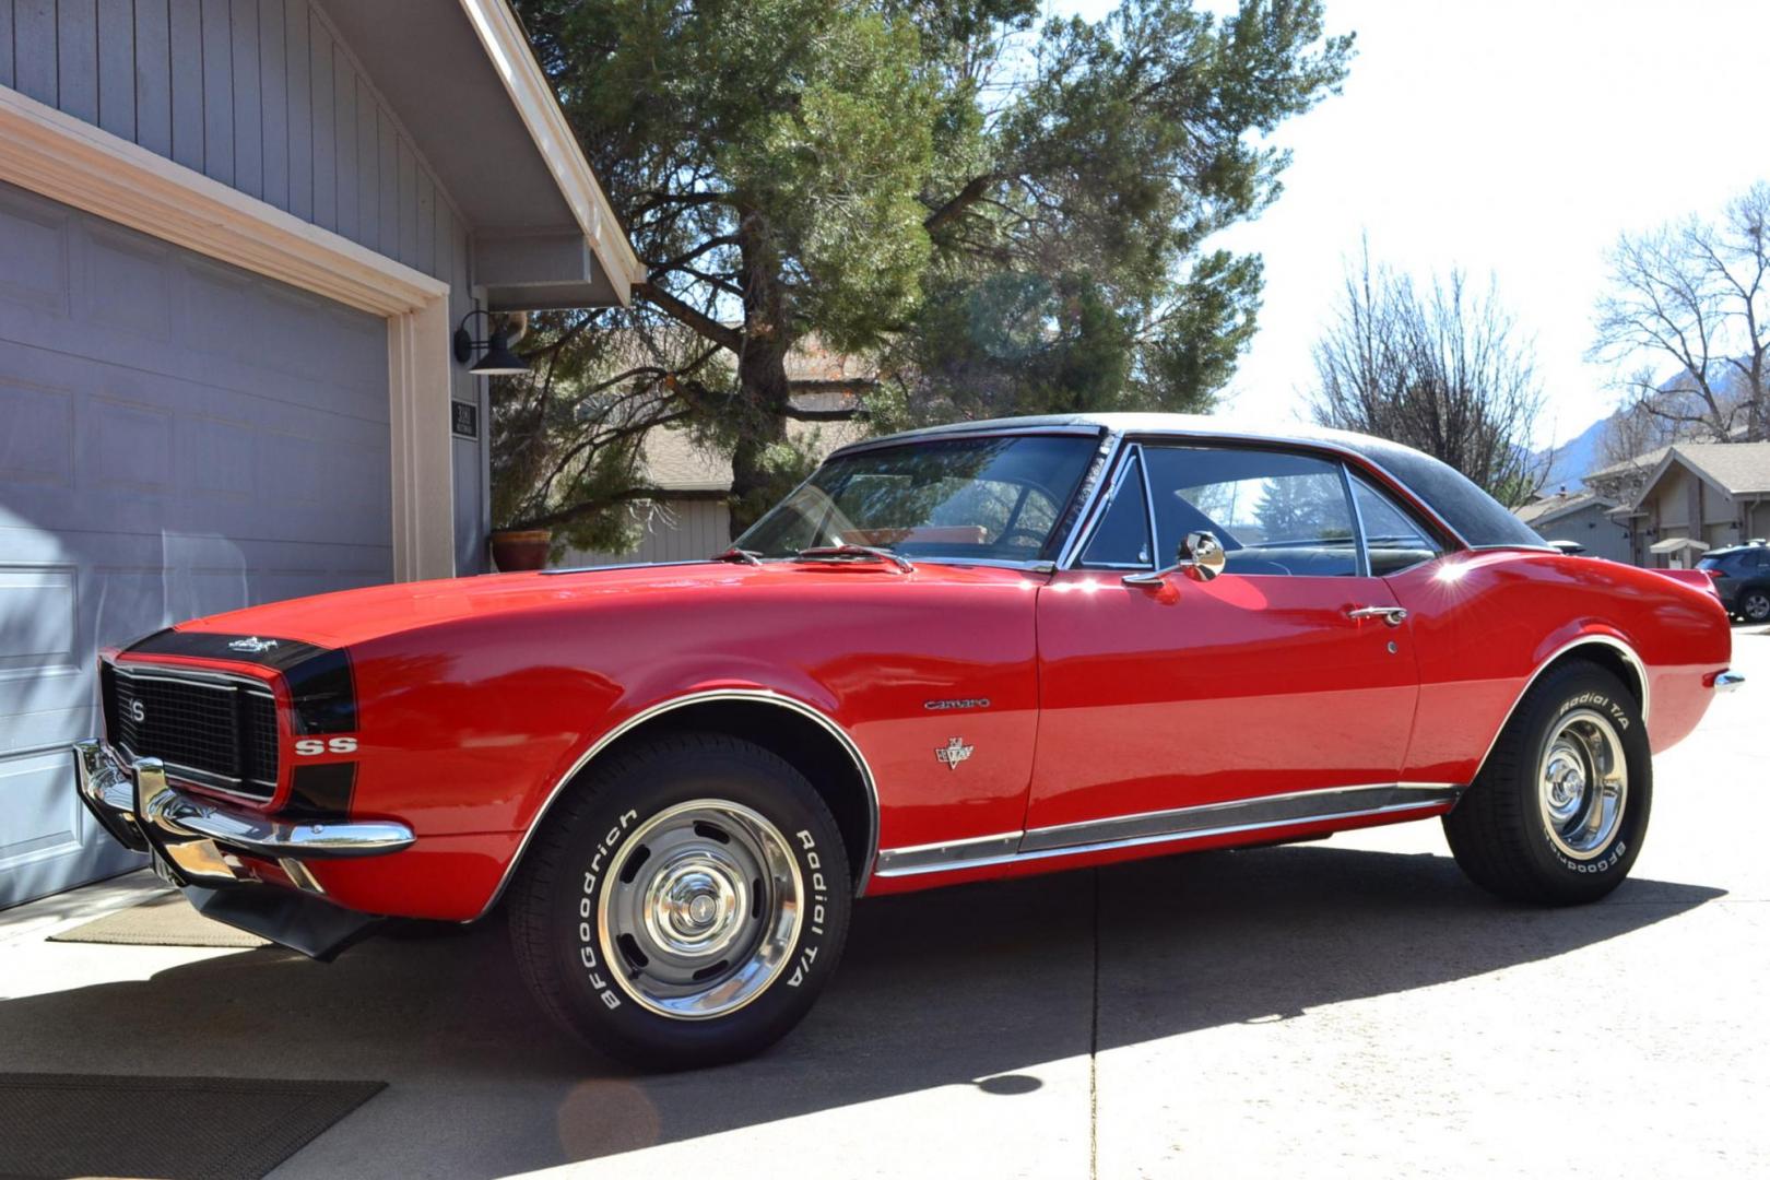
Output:
[[1641,706],[1605,669],[1572,662],[1524,693],[1444,835],[1481,888],[1572,906],[1628,876],[1651,805]]

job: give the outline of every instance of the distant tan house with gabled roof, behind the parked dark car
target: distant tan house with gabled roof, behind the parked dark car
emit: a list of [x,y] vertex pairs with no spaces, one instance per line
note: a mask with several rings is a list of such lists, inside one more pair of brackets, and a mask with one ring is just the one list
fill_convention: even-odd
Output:
[[1770,442],[1676,442],[1611,518],[1643,566],[1690,568],[1710,548],[1770,536]]

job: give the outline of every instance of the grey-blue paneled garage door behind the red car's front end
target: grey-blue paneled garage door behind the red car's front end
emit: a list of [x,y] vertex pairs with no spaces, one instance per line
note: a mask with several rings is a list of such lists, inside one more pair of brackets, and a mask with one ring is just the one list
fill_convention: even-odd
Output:
[[133,867],[94,658],[391,577],[382,320],[0,184],[0,906]]

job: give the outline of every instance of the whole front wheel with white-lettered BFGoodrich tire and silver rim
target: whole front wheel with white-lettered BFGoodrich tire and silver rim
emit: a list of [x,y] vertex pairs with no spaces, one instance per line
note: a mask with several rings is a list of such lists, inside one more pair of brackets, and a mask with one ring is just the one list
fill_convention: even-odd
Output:
[[851,906],[828,807],[786,761],[673,734],[598,761],[558,800],[510,897],[542,1008],[643,1069],[784,1037],[835,971]]

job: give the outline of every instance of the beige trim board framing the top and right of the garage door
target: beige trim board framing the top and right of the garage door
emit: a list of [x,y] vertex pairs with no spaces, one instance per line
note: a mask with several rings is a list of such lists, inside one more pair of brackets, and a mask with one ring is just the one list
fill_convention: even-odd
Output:
[[455,577],[446,283],[7,87],[0,180],[386,317],[393,577]]

